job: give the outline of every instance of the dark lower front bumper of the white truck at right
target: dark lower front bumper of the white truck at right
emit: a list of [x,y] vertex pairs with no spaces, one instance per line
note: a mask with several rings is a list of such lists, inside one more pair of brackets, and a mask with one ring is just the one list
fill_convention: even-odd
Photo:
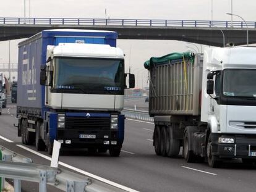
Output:
[[[219,143],[218,138],[233,138],[234,143]],[[218,134],[212,136],[213,155],[220,158],[256,159],[256,136]]]

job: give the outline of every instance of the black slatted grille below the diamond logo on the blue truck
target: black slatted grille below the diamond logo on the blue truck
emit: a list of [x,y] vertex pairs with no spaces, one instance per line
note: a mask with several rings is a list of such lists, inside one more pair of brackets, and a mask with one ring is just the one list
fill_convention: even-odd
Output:
[[109,117],[66,117],[66,128],[76,128],[85,130],[106,130],[110,128]]

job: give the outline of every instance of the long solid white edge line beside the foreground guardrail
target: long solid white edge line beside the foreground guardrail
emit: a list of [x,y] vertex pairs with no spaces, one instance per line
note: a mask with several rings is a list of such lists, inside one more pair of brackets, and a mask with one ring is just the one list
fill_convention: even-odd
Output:
[[[43,157],[43,158],[51,161],[51,157],[45,156],[45,155],[41,154],[40,152],[34,151],[33,149],[27,148],[27,147],[25,147],[25,146],[23,146],[21,144],[16,144],[16,146],[18,146],[18,147],[20,147],[22,149],[25,149],[25,150],[27,150],[29,152],[32,152],[33,154],[36,154],[36,155],[38,155],[40,157]],[[115,187],[120,188],[122,190],[126,190],[128,192],[139,192],[139,191],[133,190],[131,188],[128,188],[127,186],[123,186],[123,185],[120,185],[118,183],[114,183],[114,182],[111,182],[109,180],[106,180],[105,178],[99,177],[97,175],[93,175],[92,173],[85,172],[82,169],[78,169],[77,167],[73,167],[71,165],[65,164],[64,162],[59,161],[59,165],[67,167],[68,169],[71,169],[71,170],[75,170],[76,172],[82,173],[83,175],[86,175],[87,177],[95,178],[96,180],[99,180],[100,182],[107,183],[109,185],[115,186]]]

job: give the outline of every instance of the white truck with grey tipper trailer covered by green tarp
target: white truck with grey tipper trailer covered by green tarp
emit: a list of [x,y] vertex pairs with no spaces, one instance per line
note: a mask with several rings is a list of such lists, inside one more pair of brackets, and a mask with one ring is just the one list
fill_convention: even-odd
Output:
[[157,155],[187,162],[256,162],[256,48],[205,48],[204,54],[151,57],[149,114]]

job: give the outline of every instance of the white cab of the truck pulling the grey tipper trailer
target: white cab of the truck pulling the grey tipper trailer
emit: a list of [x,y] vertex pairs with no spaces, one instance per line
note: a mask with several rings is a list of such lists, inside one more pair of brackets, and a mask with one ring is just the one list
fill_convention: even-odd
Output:
[[205,49],[201,120],[216,157],[255,161],[255,53],[251,47]]

